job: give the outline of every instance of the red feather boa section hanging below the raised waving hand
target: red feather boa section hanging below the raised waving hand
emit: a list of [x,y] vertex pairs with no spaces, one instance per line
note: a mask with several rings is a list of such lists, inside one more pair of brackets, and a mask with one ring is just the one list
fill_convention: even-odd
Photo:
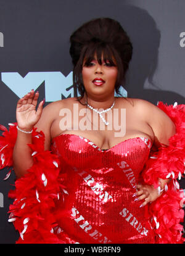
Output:
[[[17,137],[16,123],[10,124],[9,132],[4,126],[0,139],[1,155],[4,158],[1,168],[12,165],[12,153]],[[15,199],[9,207],[9,221],[14,221],[15,229],[20,233],[17,243],[49,244],[64,243],[55,234],[55,202],[64,197],[64,176],[60,173],[57,155],[44,151],[44,134],[33,130],[33,166],[27,174],[15,181],[15,190],[9,197]]]

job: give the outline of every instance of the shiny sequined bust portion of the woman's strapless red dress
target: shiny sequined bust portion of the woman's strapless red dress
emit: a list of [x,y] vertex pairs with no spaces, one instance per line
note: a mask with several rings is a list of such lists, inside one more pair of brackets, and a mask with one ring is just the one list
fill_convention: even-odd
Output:
[[[142,169],[146,162],[151,141],[145,137],[137,137],[121,141],[107,151],[102,151],[89,139],[75,134],[61,134],[52,143],[52,151],[59,155],[61,162],[80,170],[105,171],[112,168]],[[124,164],[126,166],[124,167]],[[68,170],[68,167],[66,168]]]

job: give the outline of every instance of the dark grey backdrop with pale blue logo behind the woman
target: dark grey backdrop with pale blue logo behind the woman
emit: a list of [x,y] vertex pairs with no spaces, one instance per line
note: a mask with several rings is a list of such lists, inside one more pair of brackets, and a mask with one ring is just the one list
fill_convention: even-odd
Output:
[[[46,104],[76,96],[69,37],[97,17],[118,20],[133,43],[124,95],[184,104],[184,0],[0,0],[0,123],[15,122],[17,101],[38,89]],[[7,193],[14,173],[0,172],[0,243],[15,243]],[[184,179],[180,182],[185,189]]]

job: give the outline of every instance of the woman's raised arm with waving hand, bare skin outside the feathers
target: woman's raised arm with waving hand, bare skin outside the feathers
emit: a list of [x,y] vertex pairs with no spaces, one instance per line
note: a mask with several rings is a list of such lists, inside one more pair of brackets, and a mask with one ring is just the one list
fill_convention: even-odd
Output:
[[[49,113],[50,107],[48,105],[43,109],[44,101],[39,103],[38,109],[36,110],[38,96],[39,94],[34,93],[32,90],[18,101],[16,109],[17,125],[23,131],[31,131],[34,126],[39,131],[42,130],[45,135],[44,146],[46,150],[50,147],[52,115]],[[32,142],[32,134],[24,133],[23,131],[17,130],[17,139],[13,152],[14,171],[17,178],[25,175],[28,168],[33,165],[31,149],[28,146]]]

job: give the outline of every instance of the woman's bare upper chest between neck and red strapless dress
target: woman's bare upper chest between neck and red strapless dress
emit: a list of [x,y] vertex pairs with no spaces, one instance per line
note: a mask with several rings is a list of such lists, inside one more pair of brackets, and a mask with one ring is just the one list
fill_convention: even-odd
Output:
[[[109,125],[105,125],[105,122]],[[117,104],[107,113],[97,112],[79,104],[68,105],[61,109],[51,126],[51,137],[59,134],[75,134],[94,142],[100,149],[110,149],[116,144],[137,136],[151,141],[154,138],[152,128],[130,105]]]

